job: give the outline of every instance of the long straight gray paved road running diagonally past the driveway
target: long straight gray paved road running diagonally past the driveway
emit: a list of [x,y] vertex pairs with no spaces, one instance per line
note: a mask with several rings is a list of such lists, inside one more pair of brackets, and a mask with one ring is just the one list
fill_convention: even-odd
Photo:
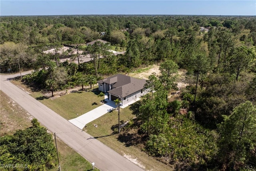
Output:
[[[14,74],[19,76],[20,74]],[[16,101],[33,117],[38,119],[42,125],[72,147],[80,155],[102,171],[142,171],[143,169],[135,165],[125,157],[110,149],[97,139],[90,139],[91,136],[72,123],[28,95],[22,89],[8,81],[10,76],[0,76],[0,89],[10,98]]]

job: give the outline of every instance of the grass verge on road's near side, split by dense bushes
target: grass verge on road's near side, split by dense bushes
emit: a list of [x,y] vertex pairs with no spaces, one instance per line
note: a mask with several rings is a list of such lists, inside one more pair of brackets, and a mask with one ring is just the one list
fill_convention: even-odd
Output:
[[[5,93],[0,91],[0,112],[1,112],[1,137],[4,135],[12,135],[18,129],[26,129],[32,126],[30,116],[26,110],[20,107]],[[53,141],[54,143],[54,141]],[[55,143],[54,143],[55,145]],[[80,154],[76,153],[72,148],[68,147],[63,141],[57,138],[58,152],[60,156],[60,165],[62,171],[88,171],[92,169],[92,165]],[[57,171],[56,167],[50,171]],[[99,171],[96,167],[94,170]]]

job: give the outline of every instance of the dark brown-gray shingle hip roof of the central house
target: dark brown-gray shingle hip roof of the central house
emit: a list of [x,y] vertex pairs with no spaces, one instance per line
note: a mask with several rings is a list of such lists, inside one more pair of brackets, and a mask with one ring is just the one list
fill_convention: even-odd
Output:
[[103,84],[104,82],[113,84],[112,87],[114,87],[114,89],[109,90],[108,93],[116,96],[120,95],[122,97],[126,97],[127,95],[143,89],[146,84],[146,80],[144,79],[133,78],[122,74],[116,74],[112,77],[98,81],[100,84]]

